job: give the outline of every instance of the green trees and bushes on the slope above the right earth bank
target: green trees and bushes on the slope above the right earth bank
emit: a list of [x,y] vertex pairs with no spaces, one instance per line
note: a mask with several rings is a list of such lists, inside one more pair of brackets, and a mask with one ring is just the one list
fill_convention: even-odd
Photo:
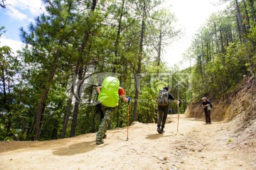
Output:
[[[213,13],[198,30],[187,52],[196,61],[191,67],[194,100],[222,96],[238,86],[243,75],[254,75],[255,9],[248,6],[245,8],[240,2],[241,13],[232,5],[227,11]],[[241,30],[238,19],[239,15],[247,15],[245,11],[248,16],[242,21]]]

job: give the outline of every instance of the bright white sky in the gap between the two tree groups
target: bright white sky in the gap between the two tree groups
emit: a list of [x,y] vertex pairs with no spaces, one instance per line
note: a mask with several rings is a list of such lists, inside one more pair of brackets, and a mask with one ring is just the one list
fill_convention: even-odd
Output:
[[183,53],[191,45],[193,35],[196,34],[212,13],[223,10],[226,4],[216,6],[219,0],[169,0],[165,2],[171,13],[178,20],[178,26],[183,29],[183,36],[165,48],[164,61],[169,67],[183,62],[181,67],[189,67],[189,61],[183,60]]

